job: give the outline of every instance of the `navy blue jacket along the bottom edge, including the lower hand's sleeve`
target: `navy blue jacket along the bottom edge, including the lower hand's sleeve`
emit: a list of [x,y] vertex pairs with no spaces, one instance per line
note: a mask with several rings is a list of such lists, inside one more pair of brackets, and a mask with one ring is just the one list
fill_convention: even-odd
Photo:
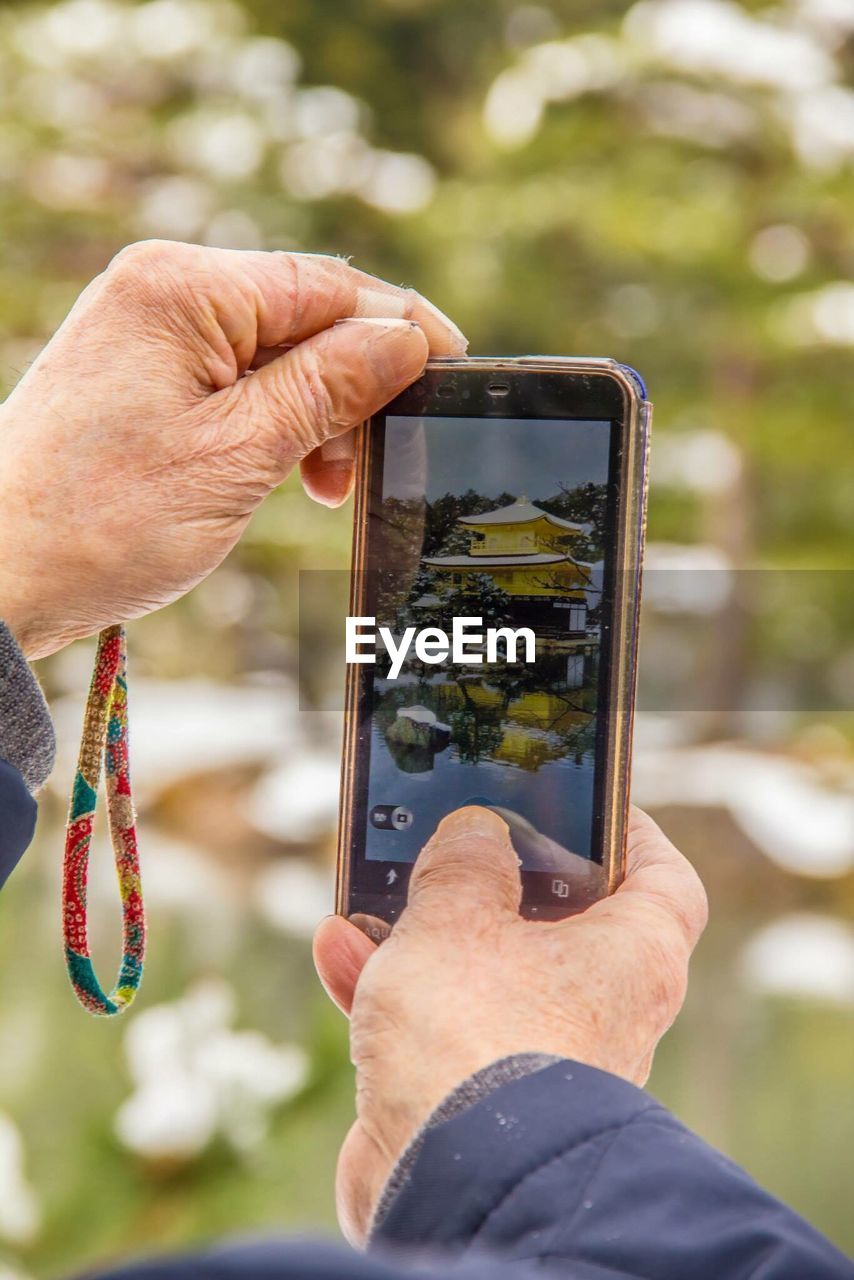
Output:
[[110,1272],[110,1280],[407,1276],[851,1280],[854,1267],[647,1093],[566,1061],[428,1129],[366,1256],[261,1242]]

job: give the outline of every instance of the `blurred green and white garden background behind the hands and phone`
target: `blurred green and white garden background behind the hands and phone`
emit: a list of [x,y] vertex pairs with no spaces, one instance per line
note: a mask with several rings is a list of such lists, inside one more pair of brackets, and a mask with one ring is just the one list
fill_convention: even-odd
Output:
[[[150,236],[352,255],[474,352],[649,379],[635,797],[713,913],[650,1087],[848,1248],[853,69],[849,0],[0,8],[5,390]],[[291,481],[133,627],[151,960],[118,1024],[76,1009],[59,950],[91,648],[42,666],[60,762],[0,913],[3,1280],[334,1230],[351,1073],[307,938],[332,901],[348,545],[348,508]],[[104,844],[92,897],[108,965]]]

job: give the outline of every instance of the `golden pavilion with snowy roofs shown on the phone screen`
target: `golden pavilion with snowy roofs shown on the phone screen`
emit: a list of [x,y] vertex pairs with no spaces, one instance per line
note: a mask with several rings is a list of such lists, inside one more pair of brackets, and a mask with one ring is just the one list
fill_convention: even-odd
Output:
[[[440,579],[447,576],[448,590],[465,594],[472,589],[474,577],[488,573],[520,607],[520,614],[540,620],[551,614],[565,634],[584,632],[592,566],[575,559],[571,552],[585,531],[583,525],[549,515],[525,495],[497,511],[462,516],[458,524],[470,535],[469,553],[423,559]],[[440,580],[437,588],[442,589]]]

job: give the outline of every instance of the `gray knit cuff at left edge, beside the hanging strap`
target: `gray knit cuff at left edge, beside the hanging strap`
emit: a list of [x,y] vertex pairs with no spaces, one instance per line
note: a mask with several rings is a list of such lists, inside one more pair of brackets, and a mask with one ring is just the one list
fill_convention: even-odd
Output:
[[38,681],[0,622],[0,760],[12,764],[29,790],[37,791],[55,755],[54,724]]

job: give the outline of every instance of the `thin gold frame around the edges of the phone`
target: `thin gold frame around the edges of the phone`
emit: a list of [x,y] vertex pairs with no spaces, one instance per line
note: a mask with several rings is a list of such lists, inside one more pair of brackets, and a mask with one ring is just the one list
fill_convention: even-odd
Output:
[[[533,370],[542,372],[597,374],[613,378],[626,401],[625,448],[620,476],[617,536],[615,541],[613,632],[611,639],[611,689],[604,710],[607,741],[603,778],[603,868],[607,892],[612,893],[625,874],[626,835],[629,828],[629,790],[631,780],[631,741],[635,714],[638,675],[638,622],[640,614],[641,570],[647,530],[649,435],[652,402],[645,398],[643,384],[632,370],[616,360],[579,356],[516,356],[463,357],[430,361],[428,369],[440,371],[466,370]],[[353,545],[351,567],[350,614],[361,616],[366,582],[367,503],[371,463],[371,433],[365,422],[356,448],[356,485],[353,512]],[[341,774],[338,820],[338,870],[335,911],[347,915],[350,872],[353,847],[355,764],[357,750],[359,668],[347,668],[344,696],[344,745]]]

